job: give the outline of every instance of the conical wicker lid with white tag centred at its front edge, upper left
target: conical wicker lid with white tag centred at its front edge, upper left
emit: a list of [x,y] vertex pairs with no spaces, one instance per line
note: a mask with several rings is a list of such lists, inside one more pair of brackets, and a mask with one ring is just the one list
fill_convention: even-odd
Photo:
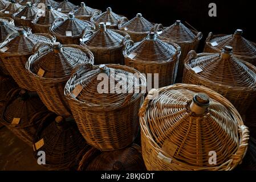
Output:
[[95,29],[94,24],[91,22],[77,19],[74,14],[69,14],[68,16],[68,19],[63,21],[56,19],[56,23],[53,23],[51,26],[51,31],[62,36],[66,36],[67,31],[71,31],[72,36],[80,36],[87,28],[92,30]]

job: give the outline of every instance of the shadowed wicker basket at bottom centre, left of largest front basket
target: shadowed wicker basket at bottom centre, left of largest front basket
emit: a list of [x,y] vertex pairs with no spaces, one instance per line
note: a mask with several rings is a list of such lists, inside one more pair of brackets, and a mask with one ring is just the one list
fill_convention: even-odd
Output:
[[141,147],[137,144],[108,152],[92,148],[83,155],[78,171],[145,171]]

